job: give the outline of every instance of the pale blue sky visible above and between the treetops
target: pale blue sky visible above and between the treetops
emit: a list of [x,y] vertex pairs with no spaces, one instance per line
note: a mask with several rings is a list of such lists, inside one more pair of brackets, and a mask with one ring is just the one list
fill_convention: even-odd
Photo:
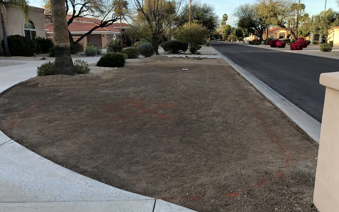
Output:
[[[199,0],[192,0],[199,1]],[[228,15],[227,24],[234,25],[233,21],[237,19],[232,17],[232,12],[235,7],[242,3],[255,3],[255,0],[200,0],[201,3],[209,3],[214,5],[215,11],[219,18],[221,19],[222,15],[226,13]],[[305,12],[312,15],[316,15],[325,9],[325,0],[300,0],[300,3],[306,5]],[[29,5],[41,7],[43,5],[43,0],[29,0]],[[332,8],[335,11],[339,11],[339,7],[336,4],[336,0],[327,0],[326,9]]]

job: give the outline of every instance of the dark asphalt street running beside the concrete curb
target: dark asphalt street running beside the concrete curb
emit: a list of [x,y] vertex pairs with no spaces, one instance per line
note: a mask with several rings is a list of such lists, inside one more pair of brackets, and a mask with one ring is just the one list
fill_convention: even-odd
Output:
[[325,87],[321,73],[339,71],[339,60],[212,41],[211,45],[321,122]]

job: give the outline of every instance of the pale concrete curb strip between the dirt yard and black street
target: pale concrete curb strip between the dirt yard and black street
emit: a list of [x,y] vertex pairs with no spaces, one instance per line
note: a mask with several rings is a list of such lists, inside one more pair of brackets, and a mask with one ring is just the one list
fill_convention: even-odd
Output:
[[269,99],[273,104],[275,104],[288,118],[290,118],[297,126],[300,127],[308,136],[310,136],[317,143],[320,142],[320,129],[321,123],[316,119],[305,113],[303,110],[299,109],[292,102],[288,101],[285,97],[278,94],[268,85],[260,81],[258,78],[252,74],[245,71],[235,62],[224,56],[221,52],[216,50],[211,46],[214,51],[216,51],[221,58],[228,62],[242,77],[244,77],[248,82],[250,82],[262,95]]

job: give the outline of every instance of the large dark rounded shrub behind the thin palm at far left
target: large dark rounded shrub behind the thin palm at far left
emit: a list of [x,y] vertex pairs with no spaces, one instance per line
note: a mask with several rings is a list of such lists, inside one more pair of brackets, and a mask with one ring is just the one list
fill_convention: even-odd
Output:
[[[34,53],[37,53],[37,43],[35,40],[31,40],[21,35],[9,35],[7,36],[9,53],[12,56],[24,56],[31,57]],[[4,49],[3,40],[1,46]]]

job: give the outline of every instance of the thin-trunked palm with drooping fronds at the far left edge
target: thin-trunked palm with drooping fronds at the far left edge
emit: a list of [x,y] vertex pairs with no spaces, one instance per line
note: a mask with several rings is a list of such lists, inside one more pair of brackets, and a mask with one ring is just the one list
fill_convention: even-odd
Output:
[[29,6],[26,0],[0,0],[0,15],[1,15],[2,34],[3,34],[3,44],[5,47],[5,56],[11,57],[11,53],[9,53],[9,49],[8,49],[7,32],[6,32],[6,14],[7,14],[6,5],[20,8],[22,13],[25,16],[26,21],[28,21],[29,19]]

